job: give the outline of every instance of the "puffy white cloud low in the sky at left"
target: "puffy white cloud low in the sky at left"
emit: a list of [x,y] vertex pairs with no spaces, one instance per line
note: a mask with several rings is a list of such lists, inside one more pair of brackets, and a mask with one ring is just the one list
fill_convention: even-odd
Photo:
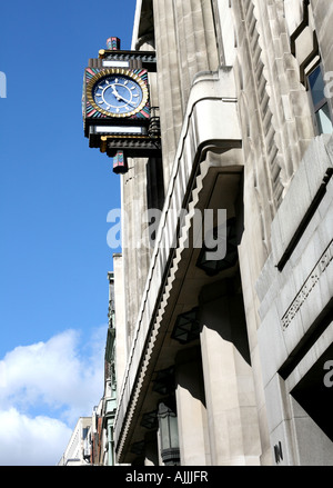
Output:
[[103,392],[107,326],[82,352],[78,331],[17,347],[0,361],[0,465],[54,465]]

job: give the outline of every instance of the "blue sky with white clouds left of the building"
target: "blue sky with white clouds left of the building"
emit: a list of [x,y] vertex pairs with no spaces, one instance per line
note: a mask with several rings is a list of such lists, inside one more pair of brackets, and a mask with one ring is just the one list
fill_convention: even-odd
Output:
[[110,36],[131,49],[134,11],[0,7],[0,466],[57,465],[103,394],[120,177],[84,138],[82,82]]

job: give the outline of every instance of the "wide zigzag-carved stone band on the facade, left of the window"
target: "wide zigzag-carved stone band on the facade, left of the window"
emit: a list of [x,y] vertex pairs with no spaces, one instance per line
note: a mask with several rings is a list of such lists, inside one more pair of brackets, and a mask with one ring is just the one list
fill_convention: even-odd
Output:
[[290,51],[284,3],[244,0],[242,8],[263,135],[266,185],[272,187],[273,218],[310,141],[311,113]]

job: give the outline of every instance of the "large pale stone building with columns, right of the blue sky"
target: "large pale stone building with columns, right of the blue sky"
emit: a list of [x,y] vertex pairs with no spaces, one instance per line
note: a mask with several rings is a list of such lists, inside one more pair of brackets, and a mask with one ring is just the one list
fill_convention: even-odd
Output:
[[121,176],[119,464],[333,464],[332,27],[331,0],[137,2],[162,153]]

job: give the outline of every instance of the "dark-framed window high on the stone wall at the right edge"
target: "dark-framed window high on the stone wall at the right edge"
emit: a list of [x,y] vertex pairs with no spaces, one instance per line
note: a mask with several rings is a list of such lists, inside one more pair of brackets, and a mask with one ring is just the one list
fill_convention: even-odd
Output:
[[324,79],[321,66],[317,66],[309,76],[309,88],[312,97],[315,123],[319,133],[332,133],[332,117],[327,99],[324,96]]

